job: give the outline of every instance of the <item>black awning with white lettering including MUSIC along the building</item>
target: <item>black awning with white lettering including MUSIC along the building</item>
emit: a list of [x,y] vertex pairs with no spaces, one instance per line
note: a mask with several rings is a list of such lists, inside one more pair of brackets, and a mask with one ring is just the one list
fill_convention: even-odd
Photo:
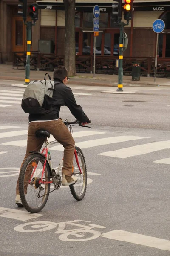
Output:
[[[40,9],[48,9],[48,10],[64,10],[63,2],[54,2],[54,1],[37,1]],[[112,3],[111,2],[98,2],[100,7],[100,12],[111,12],[112,11]],[[96,5],[96,2],[76,2],[76,11],[79,12],[93,12],[93,8]],[[135,0],[133,1],[133,10],[134,11],[170,11],[170,1],[158,1],[158,2],[139,2]]]

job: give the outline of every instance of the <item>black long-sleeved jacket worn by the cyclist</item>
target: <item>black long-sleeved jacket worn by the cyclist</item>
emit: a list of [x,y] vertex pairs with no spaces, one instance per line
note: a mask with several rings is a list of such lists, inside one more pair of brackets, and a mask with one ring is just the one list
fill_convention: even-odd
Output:
[[59,118],[59,111],[61,106],[67,106],[71,111],[72,115],[78,119],[80,122],[88,122],[89,119],[86,114],[83,112],[82,107],[77,105],[72,90],[67,85],[59,79],[54,80],[54,92],[53,92],[53,103],[51,109],[47,114],[44,115],[29,115],[29,122],[31,121],[48,121],[55,120]]

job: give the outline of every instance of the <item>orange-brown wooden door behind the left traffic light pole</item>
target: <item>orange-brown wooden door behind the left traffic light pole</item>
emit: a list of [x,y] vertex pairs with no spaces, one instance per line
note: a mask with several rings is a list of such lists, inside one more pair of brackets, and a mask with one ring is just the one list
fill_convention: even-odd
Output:
[[[32,36],[31,36],[32,38]],[[12,51],[25,52],[27,49],[26,25],[23,23],[22,17],[13,17],[12,22]],[[31,41],[32,51],[32,41]]]

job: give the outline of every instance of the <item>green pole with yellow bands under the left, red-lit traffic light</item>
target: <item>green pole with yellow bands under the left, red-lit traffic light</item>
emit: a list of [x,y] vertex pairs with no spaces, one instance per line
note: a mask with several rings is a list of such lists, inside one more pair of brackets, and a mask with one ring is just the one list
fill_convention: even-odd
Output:
[[29,84],[29,75],[30,75],[30,55],[31,55],[31,29],[32,22],[27,21],[27,58],[26,58],[26,79],[25,83]]

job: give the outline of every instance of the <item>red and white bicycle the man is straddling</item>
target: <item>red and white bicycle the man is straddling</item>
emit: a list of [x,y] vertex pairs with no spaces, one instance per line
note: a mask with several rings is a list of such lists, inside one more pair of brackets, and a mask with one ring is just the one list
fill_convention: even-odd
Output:
[[[72,126],[82,125],[78,120],[74,122],[64,122],[72,133]],[[36,131],[36,137],[44,137],[45,147],[42,152],[31,151],[24,162],[19,175],[19,192],[23,206],[28,212],[40,212],[48,200],[48,196],[54,190],[58,190],[61,186],[61,169],[63,159],[59,166],[54,169],[51,161],[49,145],[58,143],[56,140],[48,142],[47,137],[50,137],[48,131]],[[60,172],[60,173],[59,173]],[[87,188],[87,169],[85,157],[82,150],[75,147],[74,161],[72,167],[73,175],[76,175],[78,180],[74,185],[70,185],[71,194],[76,200],[82,200],[85,196]],[[53,184],[54,189],[50,191],[50,185]]]

